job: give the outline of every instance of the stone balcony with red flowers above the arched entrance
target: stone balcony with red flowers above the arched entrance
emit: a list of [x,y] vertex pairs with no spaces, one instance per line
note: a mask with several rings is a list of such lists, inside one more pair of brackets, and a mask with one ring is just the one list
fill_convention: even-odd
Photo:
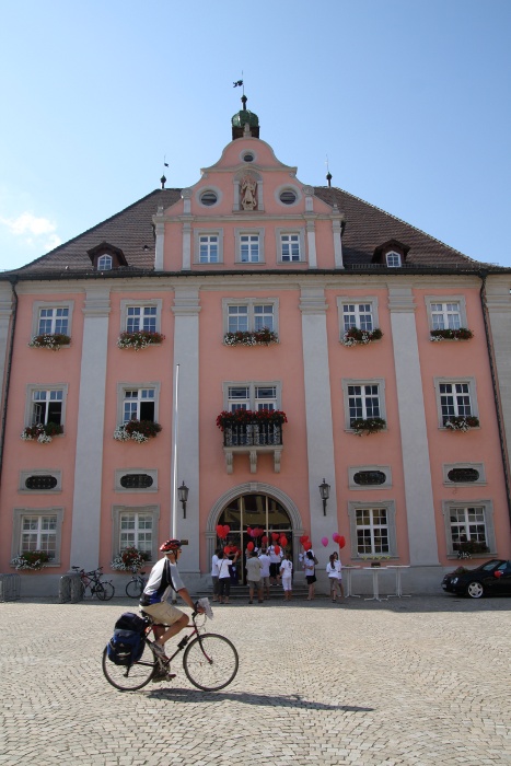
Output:
[[257,473],[257,456],[264,453],[274,455],[274,471],[280,473],[282,453],[282,426],[286,414],[280,410],[236,410],[221,413],[217,426],[223,431],[223,453],[225,469],[233,473],[235,454],[248,454],[251,474]]

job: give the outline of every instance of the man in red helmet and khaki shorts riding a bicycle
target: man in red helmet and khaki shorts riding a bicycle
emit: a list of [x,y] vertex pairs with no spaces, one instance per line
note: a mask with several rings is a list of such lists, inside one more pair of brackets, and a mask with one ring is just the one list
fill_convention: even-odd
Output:
[[188,626],[188,615],[167,601],[172,591],[178,593],[185,604],[194,612],[202,614],[204,608],[198,604],[194,604],[177,570],[181,542],[178,539],[167,539],[166,543],[160,546],[160,550],[164,556],[151,569],[140,597],[140,607],[156,623],[162,624],[153,626],[156,640],[152,647],[159,657],[166,659],[165,641]]

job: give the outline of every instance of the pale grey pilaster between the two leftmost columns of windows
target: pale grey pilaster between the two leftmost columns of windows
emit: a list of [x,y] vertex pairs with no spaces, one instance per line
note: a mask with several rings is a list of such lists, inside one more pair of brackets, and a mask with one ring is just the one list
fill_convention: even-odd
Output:
[[71,566],[93,569],[100,564],[103,431],[111,311],[109,288],[86,288],[83,307],[82,360],[78,399],[78,434],[71,530]]

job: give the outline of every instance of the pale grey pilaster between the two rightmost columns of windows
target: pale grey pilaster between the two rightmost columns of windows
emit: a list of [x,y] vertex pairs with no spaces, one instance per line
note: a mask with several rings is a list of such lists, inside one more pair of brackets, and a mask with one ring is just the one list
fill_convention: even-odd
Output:
[[390,288],[388,307],[403,445],[410,564],[417,567],[438,566],[431,465],[415,322],[416,305],[411,289]]

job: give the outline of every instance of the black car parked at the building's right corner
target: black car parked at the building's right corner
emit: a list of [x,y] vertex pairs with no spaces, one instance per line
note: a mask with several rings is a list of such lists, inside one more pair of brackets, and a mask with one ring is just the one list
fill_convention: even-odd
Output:
[[458,567],[442,580],[449,593],[480,599],[484,595],[511,595],[511,561],[492,558],[475,569]]

